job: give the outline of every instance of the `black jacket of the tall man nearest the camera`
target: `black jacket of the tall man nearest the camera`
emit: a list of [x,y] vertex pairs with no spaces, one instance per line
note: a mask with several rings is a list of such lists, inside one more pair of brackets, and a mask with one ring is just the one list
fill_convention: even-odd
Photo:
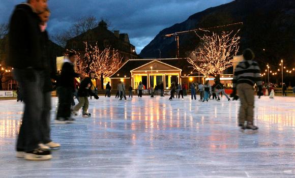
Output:
[[30,5],[24,3],[15,7],[9,24],[8,66],[16,69],[45,68],[40,22]]

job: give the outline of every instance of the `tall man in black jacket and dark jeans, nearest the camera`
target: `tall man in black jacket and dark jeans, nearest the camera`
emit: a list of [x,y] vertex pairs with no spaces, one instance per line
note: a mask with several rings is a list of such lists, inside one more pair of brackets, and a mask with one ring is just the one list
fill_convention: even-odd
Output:
[[44,110],[45,61],[42,57],[40,18],[47,8],[46,0],[30,0],[17,5],[9,24],[9,56],[7,65],[14,68],[14,77],[22,88],[25,102],[19,130],[17,157],[27,160],[51,159],[51,153],[38,145]]

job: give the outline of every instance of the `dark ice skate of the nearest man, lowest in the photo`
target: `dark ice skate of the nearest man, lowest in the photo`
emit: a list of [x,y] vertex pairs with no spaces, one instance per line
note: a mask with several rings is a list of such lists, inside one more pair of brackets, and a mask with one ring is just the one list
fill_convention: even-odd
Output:
[[31,152],[26,152],[24,155],[26,160],[33,160],[33,161],[43,161],[49,160],[52,158],[51,152],[49,150],[44,149],[35,149]]

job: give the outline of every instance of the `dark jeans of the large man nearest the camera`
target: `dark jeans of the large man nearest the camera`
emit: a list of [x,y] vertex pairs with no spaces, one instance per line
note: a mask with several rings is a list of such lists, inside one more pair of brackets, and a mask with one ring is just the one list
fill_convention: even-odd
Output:
[[14,69],[13,74],[22,89],[24,100],[24,112],[16,147],[29,152],[37,149],[41,142],[40,129],[43,128],[41,123],[44,122],[42,115],[46,112],[43,112],[45,109],[44,72],[33,69]]

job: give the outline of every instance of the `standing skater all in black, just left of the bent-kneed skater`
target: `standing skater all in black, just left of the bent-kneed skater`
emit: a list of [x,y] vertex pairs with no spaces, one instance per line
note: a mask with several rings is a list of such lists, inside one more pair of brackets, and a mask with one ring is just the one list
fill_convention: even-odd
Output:
[[71,117],[71,103],[74,93],[74,78],[79,77],[79,74],[74,71],[74,63],[76,54],[69,53],[69,58],[66,58],[62,67],[62,73],[58,79],[58,109],[55,123],[66,124],[73,123],[74,118]]

